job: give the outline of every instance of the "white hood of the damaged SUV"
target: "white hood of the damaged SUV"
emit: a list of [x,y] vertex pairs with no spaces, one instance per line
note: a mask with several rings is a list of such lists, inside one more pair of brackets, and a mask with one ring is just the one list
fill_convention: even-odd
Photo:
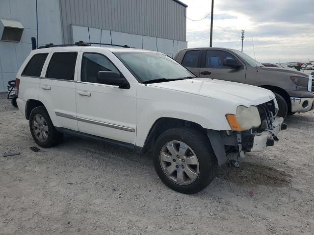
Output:
[[202,95],[246,107],[259,105],[275,98],[275,95],[271,91],[260,87],[211,78],[193,78],[152,83],[149,86]]

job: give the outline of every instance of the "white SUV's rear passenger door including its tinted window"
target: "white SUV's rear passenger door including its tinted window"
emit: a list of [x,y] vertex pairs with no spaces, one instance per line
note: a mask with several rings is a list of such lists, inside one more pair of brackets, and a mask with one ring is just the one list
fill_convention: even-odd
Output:
[[39,100],[46,106],[53,125],[75,131],[77,58],[78,47],[54,48],[39,89]]

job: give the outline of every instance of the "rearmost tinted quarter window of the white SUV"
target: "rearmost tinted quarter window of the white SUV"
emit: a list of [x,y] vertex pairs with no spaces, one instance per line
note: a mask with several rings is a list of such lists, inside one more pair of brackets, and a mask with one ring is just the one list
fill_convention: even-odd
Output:
[[35,54],[27,63],[22,76],[40,77],[48,53]]

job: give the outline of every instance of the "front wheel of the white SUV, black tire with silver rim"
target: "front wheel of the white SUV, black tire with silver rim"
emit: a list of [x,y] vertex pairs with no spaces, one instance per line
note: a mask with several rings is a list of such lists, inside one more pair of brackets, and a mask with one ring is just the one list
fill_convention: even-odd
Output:
[[186,127],[169,129],[157,138],[153,162],[157,175],[166,186],[186,194],[206,188],[218,174],[217,159],[208,138]]

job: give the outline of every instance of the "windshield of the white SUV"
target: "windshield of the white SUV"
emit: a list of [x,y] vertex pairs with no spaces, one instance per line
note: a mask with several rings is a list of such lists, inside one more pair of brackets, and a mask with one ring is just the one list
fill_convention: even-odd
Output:
[[194,78],[195,75],[172,58],[154,52],[115,52],[122,63],[141,83],[151,80]]

